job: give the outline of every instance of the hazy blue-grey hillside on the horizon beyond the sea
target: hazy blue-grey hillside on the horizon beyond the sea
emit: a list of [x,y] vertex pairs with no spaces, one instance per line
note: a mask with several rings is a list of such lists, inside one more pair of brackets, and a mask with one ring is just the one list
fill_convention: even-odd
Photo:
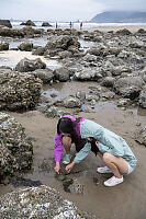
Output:
[[97,14],[90,22],[96,23],[146,23],[146,12],[106,11]]

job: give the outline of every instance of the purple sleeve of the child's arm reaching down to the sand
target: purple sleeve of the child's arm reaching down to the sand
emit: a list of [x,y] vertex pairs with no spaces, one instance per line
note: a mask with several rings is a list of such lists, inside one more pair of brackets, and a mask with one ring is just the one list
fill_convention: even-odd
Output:
[[55,161],[59,161],[61,159],[64,152],[63,143],[61,143],[61,135],[56,132],[55,136]]

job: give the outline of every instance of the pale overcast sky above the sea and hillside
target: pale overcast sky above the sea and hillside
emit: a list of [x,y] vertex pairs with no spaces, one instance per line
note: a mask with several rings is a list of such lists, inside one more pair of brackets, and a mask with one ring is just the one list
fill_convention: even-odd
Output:
[[0,0],[0,19],[89,21],[108,10],[146,11],[146,0]]

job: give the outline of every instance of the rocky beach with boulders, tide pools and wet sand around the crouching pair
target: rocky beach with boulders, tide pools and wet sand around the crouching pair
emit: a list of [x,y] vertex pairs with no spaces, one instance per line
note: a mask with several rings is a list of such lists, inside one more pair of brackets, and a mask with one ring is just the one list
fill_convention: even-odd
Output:
[[[146,25],[5,25],[0,218],[145,219]],[[64,165],[60,177],[55,174],[56,124],[66,114],[92,119],[127,141],[138,162],[123,184],[104,187],[110,175],[97,173],[103,163],[92,153],[70,174]]]

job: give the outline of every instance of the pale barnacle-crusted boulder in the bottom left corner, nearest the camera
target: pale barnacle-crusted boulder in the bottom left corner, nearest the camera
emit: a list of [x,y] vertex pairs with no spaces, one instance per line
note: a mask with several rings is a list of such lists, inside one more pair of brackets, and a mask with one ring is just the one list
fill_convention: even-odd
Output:
[[1,196],[0,218],[96,219],[97,217],[80,211],[74,203],[63,199],[56,189],[41,185]]

